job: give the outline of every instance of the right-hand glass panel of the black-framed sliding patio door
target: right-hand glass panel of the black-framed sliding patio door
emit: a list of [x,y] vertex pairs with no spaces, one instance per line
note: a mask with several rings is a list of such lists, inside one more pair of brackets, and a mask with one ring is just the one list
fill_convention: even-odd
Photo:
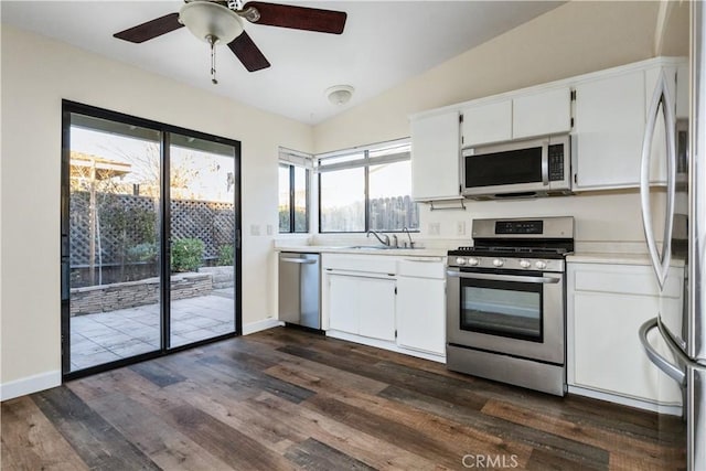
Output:
[[235,330],[233,147],[171,135],[170,346]]

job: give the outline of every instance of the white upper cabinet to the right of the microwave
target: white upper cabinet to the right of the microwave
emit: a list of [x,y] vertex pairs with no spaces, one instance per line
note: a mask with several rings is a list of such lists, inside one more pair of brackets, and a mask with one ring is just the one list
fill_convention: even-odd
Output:
[[[677,119],[688,116],[688,69],[678,61],[627,66],[576,84],[574,190],[640,185],[642,142],[660,74],[664,73]],[[664,114],[651,141],[650,181],[665,184]]]

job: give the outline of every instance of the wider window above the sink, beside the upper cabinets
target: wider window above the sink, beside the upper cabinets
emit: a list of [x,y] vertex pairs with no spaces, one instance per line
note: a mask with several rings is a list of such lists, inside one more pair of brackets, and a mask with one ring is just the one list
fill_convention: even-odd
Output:
[[319,156],[322,233],[418,231],[409,140]]

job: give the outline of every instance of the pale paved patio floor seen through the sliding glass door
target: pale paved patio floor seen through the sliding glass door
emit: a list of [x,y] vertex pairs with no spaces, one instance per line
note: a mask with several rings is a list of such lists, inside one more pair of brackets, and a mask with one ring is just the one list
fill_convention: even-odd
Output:
[[[159,350],[159,304],[71,318],[71,371]],[[171,302],[171,346],[235,330],[233,288]]]

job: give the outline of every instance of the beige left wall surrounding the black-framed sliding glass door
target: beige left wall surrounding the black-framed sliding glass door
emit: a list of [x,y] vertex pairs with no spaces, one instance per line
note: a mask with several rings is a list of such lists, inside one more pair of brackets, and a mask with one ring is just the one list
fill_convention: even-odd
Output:
[[0,381],[61,368],[62,98],[242,142],[243,322],[275,312],[277,147],[312,149],[310,126],[2,25]]

